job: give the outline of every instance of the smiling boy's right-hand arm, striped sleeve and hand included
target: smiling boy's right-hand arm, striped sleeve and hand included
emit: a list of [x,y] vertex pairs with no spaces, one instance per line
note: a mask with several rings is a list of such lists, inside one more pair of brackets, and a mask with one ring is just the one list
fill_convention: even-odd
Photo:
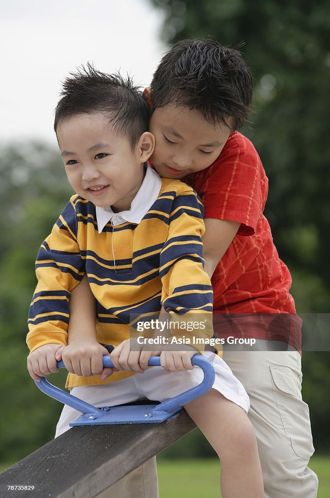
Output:
[[[170,313],[172,324],[179,322],[180,330],[171,328],[170,322],[169,332],[175,341],[169,338],[160,355],[167,373],[192,369],[191,358],[204,350],[205,339],[213,335],[213,292],[203,268],[203,205],[195,192],[176,197],[169,223],[168,238],[160,256],[162,304]],[[201,342],[195,344],[195,339]]]

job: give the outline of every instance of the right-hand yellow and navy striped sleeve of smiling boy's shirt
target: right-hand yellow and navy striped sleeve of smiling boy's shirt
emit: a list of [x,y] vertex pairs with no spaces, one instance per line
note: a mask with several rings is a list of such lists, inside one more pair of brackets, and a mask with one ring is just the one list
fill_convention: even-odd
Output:
[[[205,329],[185,332],[196,337],[212,336],[213,292],[203,269],[203,206],[192,190],[173,202],[167,241],[160,254],[162,304],[172,320],[206,320]],[[179,316],[178,316],[179,315]],[[194,315],[194,316],[192,316]],[[177,332],[175,333],[177,336]]]

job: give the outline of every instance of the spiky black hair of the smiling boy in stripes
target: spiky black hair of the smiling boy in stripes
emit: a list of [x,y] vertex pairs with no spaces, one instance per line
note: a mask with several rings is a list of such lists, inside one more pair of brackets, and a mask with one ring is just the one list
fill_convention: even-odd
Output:
[[109,123],[128,139],[132,149],[148,130],[150,108],[129,77],[124,80],[119,74],[102,73],[87,63],[69,74],[60,95],[55,108],[55,132],[63,119],[93,112],[109,116]]

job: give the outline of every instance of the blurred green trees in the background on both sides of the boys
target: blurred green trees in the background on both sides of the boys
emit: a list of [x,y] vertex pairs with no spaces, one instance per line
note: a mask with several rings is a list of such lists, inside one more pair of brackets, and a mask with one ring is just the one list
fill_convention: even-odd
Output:
[[[330,9],[287,0],[149,0],[166,12],[168,42],[212,35],[223,45],[245,41],[255,81],[252,139],[270,179],[266,216],[293,274],[301,313],[329,312]],[[202,29],[201,29],[202,27]],[[42,394],[26,370],[26,317],[36,279],[34,260],[72,191],[58,152],[41,143],[0,150],[0,460],[35,450],[54,434],[61,404]],[[303,354],[304,397],[315,446],[329,448],[328,352]],[[65,373],[51,379],[64,383]],[[171,458],[211,455],[198,431]]]

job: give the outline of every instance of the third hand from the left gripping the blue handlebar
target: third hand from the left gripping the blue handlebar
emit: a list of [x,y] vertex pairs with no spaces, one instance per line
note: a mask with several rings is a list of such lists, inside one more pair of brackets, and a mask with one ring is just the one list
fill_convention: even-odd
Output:
[[147,351],[136,339],[126,339],[110,354],[111,361],[117,371],[143,373],[148,368],[152,356],[159,356],[160,351]]

